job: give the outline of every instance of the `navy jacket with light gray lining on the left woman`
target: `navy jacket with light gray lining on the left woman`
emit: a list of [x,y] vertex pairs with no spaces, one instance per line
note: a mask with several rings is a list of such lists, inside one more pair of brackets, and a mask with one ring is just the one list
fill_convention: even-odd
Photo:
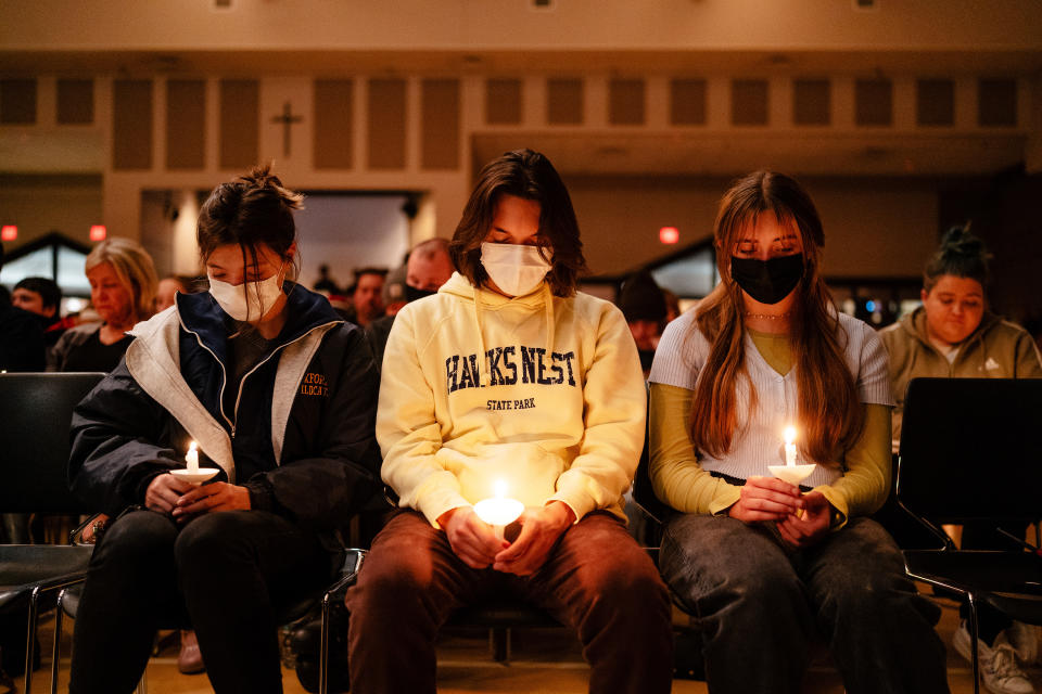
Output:
[[199,444],[218,480],[251,506],[317,530],[344,525],[379,489],[373,438],[377,372],[361,331],[321,296],[290,285],[287,322],[221,408],[228,321],[208,293],[139,323],[124,361],[77,406],[69,485],[115,515],[144,502],[156,475],[185,466]]

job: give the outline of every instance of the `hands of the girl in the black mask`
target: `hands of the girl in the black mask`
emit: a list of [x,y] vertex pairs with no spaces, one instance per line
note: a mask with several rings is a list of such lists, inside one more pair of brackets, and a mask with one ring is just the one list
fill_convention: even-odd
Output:
[[727,515],[744,523],[774,523],[786,543],[805,548],[828,532],[831,506],[819,491],[801,494],[799,487],[776,477],[750,477]]

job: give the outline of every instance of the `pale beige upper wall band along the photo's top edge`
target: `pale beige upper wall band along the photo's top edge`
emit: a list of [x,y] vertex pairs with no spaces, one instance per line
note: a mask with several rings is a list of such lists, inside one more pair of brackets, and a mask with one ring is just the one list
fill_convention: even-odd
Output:
[[[11,1],[16,50],[806,49],[1038,47],[1035,0],[212,0]],[[85,27],[89,29],[85,30]]]

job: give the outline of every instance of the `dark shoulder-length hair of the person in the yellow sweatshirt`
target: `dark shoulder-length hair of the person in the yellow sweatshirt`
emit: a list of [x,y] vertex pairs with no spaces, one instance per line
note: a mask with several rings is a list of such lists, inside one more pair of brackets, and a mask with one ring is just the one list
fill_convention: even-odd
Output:
[[573,295],[586,260],[572,198],[550,160],[532,150],[507,152],[481,169],[448,246],[456,270],[474,286],[488,280],[481,265],[481,244],[504,195],[539,204],[539,246],[552,254],[546,280],[556,296]]

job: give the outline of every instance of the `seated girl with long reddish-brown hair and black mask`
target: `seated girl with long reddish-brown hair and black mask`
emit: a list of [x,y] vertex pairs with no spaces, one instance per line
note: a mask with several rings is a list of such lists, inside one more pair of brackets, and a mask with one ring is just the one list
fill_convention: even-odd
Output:
[[[889,489],[882,344],[839,313],[824,230],[791,178],[757,171],[724,195],[721,282],[671,323],[651,369],[650,475],[679,513],[660,569],[703,621],[711,692],[798,692],[823,634],[849,692],[943,692],[939,611],[864,516]],[[783,434],[816,463],[772,476]]]

